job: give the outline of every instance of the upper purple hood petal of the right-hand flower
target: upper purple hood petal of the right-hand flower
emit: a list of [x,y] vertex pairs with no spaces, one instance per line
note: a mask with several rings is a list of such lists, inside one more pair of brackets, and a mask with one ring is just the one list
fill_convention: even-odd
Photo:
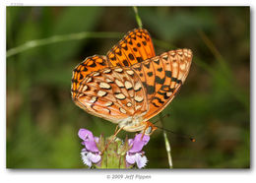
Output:
[[141,139],[143,134],[138,134],[135,136],[133,140],[133,146],[129,150],[129,152],[141,152],[143,147],[148,144],[150,141],[150,136],[144,135],[143,139]]

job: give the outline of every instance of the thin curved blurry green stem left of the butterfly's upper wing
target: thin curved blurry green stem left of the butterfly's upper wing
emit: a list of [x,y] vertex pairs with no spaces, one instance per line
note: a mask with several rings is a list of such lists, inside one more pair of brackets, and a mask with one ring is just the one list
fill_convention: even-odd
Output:
[[53,35],[47,38],[30,40],[20,46],[11,48],[7,51],[6,57],[11,57],[22,53],[26,50],[32,49],[34,47],[52,44],[56,42],[68,41],[68,40],[78,40],[83,38],[119,38],[123,33],[120,32],[107,32],[107,31],[82,31],[78,33],[70,33],[63,35]]

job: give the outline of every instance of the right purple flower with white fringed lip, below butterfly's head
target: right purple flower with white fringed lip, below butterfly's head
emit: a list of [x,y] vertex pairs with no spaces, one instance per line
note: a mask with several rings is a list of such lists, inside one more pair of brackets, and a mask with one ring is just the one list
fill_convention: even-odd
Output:
[[148,159],[142,152],[142,149],[145,145],[150,141],[150,136],[138,134],[134,139],[129,139],[128,144],[132,146],[132,148],[126,153],[126,162],[129,165],[137,163],[139,168],[142,168],[146,165]]

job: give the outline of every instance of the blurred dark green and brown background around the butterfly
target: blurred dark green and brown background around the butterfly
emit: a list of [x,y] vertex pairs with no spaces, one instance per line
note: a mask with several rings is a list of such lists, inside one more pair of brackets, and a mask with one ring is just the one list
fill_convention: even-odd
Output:
[[[157,55],[178,47],[194,52],[184,86],[162,112],[170,114],[163,121],[164,128],[194,135],[197,140],[191,143],[167,134],[173,167],[249,168],[249,7],[138,10],[144,28],[154,38]],[[138,28],[132,7],[7,7],[6,13],[7,167],[86,167],[80,158],[83,147],[78,130],[87,128],[95,136],[110,136],[115,125],[73,103],[72,70],[88,56],[105,54],[120,34]],[[82,31],[119,34],[46,41],[9,55],[10,49],[33,39]],[[134,137],[127,132],[118,137],[126,135]],[[147,168],[168,168],[161,130],[151,136],[144,151]]]

